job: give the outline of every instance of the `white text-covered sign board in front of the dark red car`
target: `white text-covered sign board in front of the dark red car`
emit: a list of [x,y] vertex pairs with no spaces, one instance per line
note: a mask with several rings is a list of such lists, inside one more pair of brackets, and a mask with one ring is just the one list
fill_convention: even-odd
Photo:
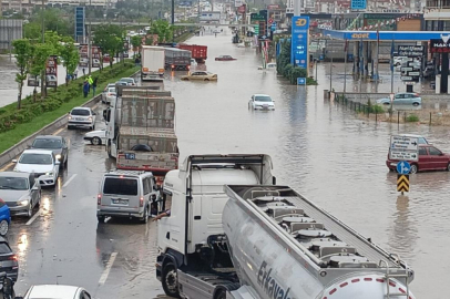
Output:
[[389,158],[399,161],[418,161],[419,143],[417,137],[392,135],[390,137]]

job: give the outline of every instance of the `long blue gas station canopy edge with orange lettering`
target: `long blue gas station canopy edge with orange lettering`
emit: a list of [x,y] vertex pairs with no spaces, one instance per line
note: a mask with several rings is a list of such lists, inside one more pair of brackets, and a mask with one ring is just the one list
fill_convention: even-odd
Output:
[[347,41],[430,41],[450,37],[450,31],[351,31],[324,30],[324,35]]

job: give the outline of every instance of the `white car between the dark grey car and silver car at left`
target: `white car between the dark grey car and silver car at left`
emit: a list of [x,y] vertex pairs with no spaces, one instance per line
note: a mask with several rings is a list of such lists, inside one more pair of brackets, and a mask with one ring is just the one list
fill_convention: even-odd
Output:
[[41,186],[55,186],[60,172],[60,162],[52,151],[25,150],[16,163],[14,172],[34,173]]

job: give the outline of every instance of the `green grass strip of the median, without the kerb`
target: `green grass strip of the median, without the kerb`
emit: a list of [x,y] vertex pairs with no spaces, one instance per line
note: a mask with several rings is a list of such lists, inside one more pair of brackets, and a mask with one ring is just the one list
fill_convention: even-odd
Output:
[[[108,72],[108,70],[109,70],[108,68],[103,69],[103,72]],[[120,73],[119,75],[109,79],[108,82],[103,82],[103,83],[99,84],[99,86],[96,87],[96,94],[101,93],[108,83],[114,83],[117,80],[120,80],[121,78],[130,76],[133,73],[137,72],[139,70],[140,70],[139,66],[131,68],[131,69]],[[92,74],[96,75],[98,73],[95,72],[95,74],[94,73],[92,73]],[[75,82],[72,82],[71,84],[78,84],[78,81],[82,82],[83,79],[80,78]],[[62,87],[64,87],[64,85],[59,86],[59,89],[62,89]],[[49,95],[51,93],[52,93],[52,91],[49,90]],[[91,96],[91,94],[92,93],[90,93],[89,96]],[[29,123],[18,124],[14,128],[12,128],[8,132],[4,132],[4,133],[0,133],[0,153],[3,153],[4,151],[10,148],[14,144],[19,143],[20,141],[30,136],[31,134],[38,132],[45,125],[54,122],[62,115],[68,114],[73,107],[82,105],[83,103],[88,102],[90,99],[92,99],[92,97],[84,97],[82,94],[82,90],[80,89],[80,94],[78,96],[75,96],[70,102],[62,103],[62,105],[60,107],[58,107],[57,110],[44,112],[41,115],[34,117]],[[17,103],[12,103],[11,105],[13,105],[16,107]],[[9,105],[8,105],[8,109],[9,109]]]

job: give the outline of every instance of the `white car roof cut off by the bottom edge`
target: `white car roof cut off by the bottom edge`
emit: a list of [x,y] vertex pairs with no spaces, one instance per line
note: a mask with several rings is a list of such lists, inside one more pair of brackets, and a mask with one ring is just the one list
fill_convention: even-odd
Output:
[[31,286],[23,299],[91,299],[93,298],[85,289],[63,285]]

